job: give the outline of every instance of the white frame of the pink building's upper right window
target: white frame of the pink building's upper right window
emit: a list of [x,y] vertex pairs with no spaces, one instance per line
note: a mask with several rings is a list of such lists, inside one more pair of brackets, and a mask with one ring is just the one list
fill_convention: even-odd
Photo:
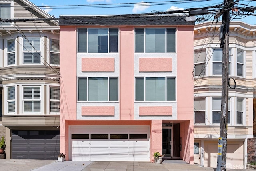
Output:
[[[135,52],[135,47],[136,47],[136,29],[144,29],[144,52]],[[165,29],[165,52],[146,52],[146,29]],[[175,52],[167,52],[167,29],[175,29]],[[134,29],[134,53],[136,54],[176,54],[177,53],[177,28],[135,28]]]

